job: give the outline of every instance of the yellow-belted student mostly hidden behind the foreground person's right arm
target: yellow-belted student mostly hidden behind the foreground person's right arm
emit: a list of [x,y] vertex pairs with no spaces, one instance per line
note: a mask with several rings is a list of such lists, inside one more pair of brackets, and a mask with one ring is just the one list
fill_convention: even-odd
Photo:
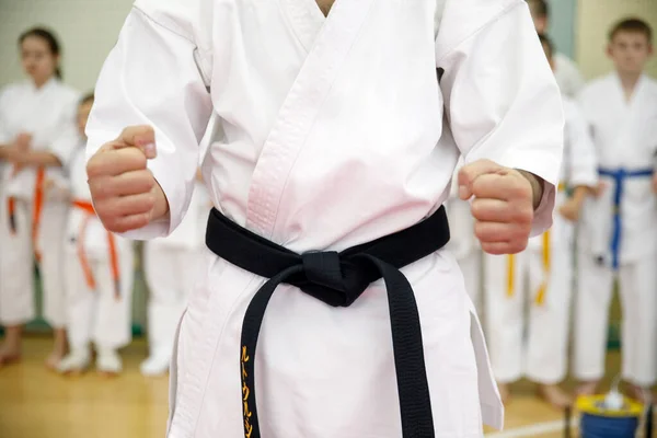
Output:
[[[551,41],[544,35],[539,38],[554,68]],[[558,383],[566,374],[574,228],[585,198],[597,186],[596,154],[586,119],[566,96],[563,106],[565,149],[554,224],[531,239],[521,254],[485,257],[488,343],[503,400],[510,397],[509,383],[526,376],[555,407],[572,403]],[[527,322],[525,300],[530,300]]]

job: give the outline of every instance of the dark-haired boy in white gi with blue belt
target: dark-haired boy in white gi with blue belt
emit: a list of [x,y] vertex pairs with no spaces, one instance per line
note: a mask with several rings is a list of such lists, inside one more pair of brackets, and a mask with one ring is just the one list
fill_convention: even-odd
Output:
[[644,72],[653,31],[638,19],[615,24],[607,53],[615,71],[592,81],[579,102],[590,125],[604,191],[585,205],[578,258],[575,373],[595,393],[604,374],[609,304],[619,280],[622,377],[633,395],[657,373],[657,82]]

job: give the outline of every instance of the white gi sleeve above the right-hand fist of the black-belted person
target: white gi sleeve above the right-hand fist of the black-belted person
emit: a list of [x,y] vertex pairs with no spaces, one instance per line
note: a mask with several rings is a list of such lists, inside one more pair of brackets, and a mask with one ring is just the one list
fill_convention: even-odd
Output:
[[446,116],[465,163],[545,181],[531,235],[552,226],[563,153],[561,95],[521,0],[447,0],[436,39]]

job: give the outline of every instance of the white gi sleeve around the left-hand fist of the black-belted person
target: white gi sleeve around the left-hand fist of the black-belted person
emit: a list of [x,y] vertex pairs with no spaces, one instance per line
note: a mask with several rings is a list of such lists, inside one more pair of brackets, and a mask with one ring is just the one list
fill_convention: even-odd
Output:
[[189,206],[198,145],[212,105],[192,25],[183,20],[155,20],[150,9],[157,12],[157,2],[150,3],[148,13],[139,3],[101,71],[87,125],[87,157],[128,126],[153,127],[157,158],[149,160],[148,168],[166,196],[170,215],[123,234],[149,240],[171,234]]

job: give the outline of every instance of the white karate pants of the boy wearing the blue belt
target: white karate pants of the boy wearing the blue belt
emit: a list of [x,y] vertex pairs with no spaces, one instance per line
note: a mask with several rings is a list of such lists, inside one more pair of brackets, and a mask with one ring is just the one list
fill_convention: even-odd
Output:
[[[604,376],[609,306],[613,270],[580,253],[575,318],[574,371],[581,381]],[[657,380],[657,255],[621,265],[618,270],[622,307],[622,377],[650,387]]]

